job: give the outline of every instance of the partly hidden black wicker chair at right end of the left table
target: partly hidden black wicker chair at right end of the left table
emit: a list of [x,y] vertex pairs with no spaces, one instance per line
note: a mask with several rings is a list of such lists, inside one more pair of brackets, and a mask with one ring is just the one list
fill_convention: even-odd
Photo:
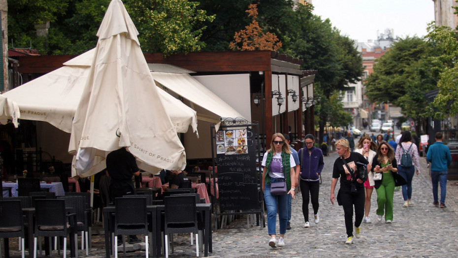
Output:
[[[76,231],[81,231],[81,250],[84,250],[86,239],[86,256],[89,255],[89,221],[85,196],[58,196],[58,200],[65,201],[65,207],[72,207],[76,213]],[[86,238],[85,238],[86,236]],[[78,241],[78,240],[77,240]],[[78,244],[78,243],[76,243]],[[76,245],[78,246],[78,245]]]

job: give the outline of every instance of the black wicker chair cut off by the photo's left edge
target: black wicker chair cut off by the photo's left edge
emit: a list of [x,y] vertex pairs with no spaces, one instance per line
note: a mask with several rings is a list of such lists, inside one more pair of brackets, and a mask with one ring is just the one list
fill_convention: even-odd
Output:
[[[19,237],[22,258],[25,257],[25,230],[22,218],[21,201],[0,201],[0,238]],[[1,246],[0,246],[1,257]],[[8,257],[5,253],[5,257]]]

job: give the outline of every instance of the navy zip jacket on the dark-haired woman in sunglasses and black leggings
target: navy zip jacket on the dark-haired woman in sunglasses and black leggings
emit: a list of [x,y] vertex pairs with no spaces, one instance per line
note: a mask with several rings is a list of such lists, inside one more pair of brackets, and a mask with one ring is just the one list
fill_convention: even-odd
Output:
[[323,162],[323,152],[315,146],[310,150],[312,151],[311,154],[309,154],[309,149],[306,147],[299,149],[297,152],[299,155],[299,162],[301,163],[300,179],[305,181],[318,181],[320,179],[319,174],[321,174],[323,166],[325,165]]

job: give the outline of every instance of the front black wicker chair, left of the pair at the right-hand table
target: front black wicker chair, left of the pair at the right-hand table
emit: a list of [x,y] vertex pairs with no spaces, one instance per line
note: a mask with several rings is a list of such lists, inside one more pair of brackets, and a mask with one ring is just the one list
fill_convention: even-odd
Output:
[[[118,242],[118,235],[145,235],[145,255],[148,258],[148,220],[146,214],[145,197],[129,197],[115,199],[115,219],[114,219],[114,245]],[[123,241],[123,248],[126,243]],[[118,258],[116,248],[115,258]]]

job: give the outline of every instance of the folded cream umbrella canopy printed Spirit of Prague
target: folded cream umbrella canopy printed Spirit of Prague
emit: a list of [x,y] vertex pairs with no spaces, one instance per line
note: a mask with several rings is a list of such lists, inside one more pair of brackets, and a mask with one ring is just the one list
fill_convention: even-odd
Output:
[[[110,151],[128,146],[141,163],[182,170],[186,154],[160,99],[135,29],[121,0],[112,0],[98,30],[68,151],[78,174]],[[96,156],[98,157],[96,159]],[[93,172],[91,172],[93,173]]]

